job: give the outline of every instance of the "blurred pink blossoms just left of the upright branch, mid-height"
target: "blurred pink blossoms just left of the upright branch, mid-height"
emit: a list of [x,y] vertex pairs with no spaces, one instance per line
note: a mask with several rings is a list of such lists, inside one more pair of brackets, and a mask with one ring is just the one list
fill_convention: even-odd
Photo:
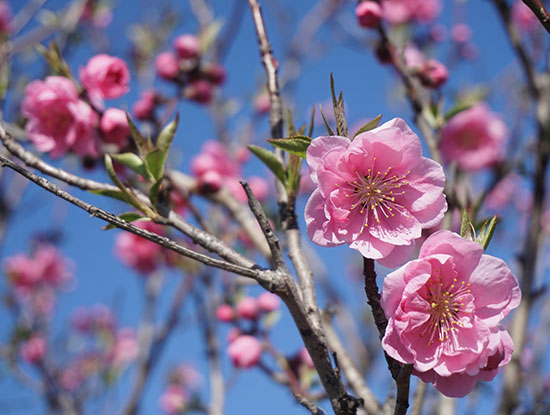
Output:
[[[239,183],[242,177],[241,160],[229,154],[227,148],[218,141],[204,143],[202,152],[191,160],[191,171],[198,179],[199,191],[211,193],[226,187],[239,202],[246,203],[246,193]],[[265,179],[252,176],[246,181],[259,201],[267,198],[268,185]]]

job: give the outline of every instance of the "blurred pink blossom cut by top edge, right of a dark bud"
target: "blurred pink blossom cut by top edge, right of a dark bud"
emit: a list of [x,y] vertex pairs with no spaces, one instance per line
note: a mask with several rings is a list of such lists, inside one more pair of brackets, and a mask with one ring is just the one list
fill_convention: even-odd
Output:
[[383,0],[383,17],[393,24],[429,22],[441,12],[440,0]]

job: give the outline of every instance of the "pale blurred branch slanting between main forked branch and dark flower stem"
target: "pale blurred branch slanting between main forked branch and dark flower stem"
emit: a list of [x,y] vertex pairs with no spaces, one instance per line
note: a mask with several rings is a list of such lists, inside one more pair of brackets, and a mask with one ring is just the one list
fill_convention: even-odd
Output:
[[372,391],[369,389],[369,387],[365,383],[363,374],[359,371],[359,369],[351,359],[351,356],[344,348],[344,345],[340,341],[338,334],[332,327],[330,319],[331,316],[328,313],[325,313],[323,315],[323,327],[325,328],[325,335],[327,336],[329,347],[338,356],[340,369],[344,373],[355,394],[363,400],[363,407],[367,411],[367,414],[379,414],[382,408],[378,400],[376,399],[376,396],[374,396]]

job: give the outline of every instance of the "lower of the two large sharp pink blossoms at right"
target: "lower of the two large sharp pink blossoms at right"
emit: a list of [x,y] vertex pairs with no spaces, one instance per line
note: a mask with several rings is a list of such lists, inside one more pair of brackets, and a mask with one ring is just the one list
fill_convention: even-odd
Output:
[[462,397],[510,361],[512,340],[499,323],[520,299],[504,261],[483,254],[476,242],[438,231],[417,260],[384,279],[382,346],[441,393]]

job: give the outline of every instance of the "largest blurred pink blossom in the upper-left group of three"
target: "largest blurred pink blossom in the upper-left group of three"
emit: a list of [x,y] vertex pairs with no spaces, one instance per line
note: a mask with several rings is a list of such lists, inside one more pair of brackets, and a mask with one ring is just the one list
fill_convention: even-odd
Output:
[[97,114],[79,100],[73,82],[62,76],[33,81],[25,89],[22,106],[25,129],[38,150],[59,157],[69,150],[96,155],[94,126]]

